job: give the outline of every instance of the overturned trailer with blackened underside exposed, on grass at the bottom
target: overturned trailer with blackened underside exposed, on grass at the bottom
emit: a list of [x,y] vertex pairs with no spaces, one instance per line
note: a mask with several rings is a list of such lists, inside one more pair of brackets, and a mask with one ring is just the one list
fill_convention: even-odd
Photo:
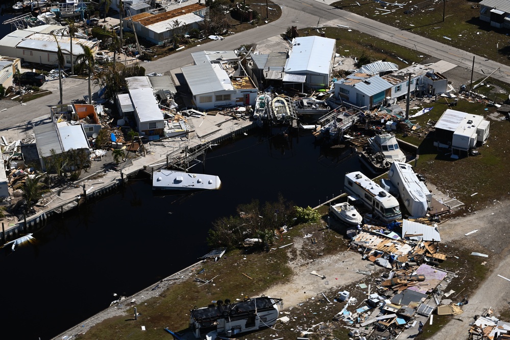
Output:
[[217,301],[207,307],[190,311],[189,328],[196,338],[205,338],[215,332],[227,337],[271,327],[278,319],[282,299],[260,297],[236,303]]

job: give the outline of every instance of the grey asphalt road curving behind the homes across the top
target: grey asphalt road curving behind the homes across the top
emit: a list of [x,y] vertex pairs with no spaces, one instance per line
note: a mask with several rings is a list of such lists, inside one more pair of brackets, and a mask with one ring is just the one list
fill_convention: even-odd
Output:
[[[207,42],[200,46],[185,49],[171,56],[161,58],[153,62],[142,62],[148,73],[165,73],[192,62],[190,53],[203,50],[233,50],[241,44],[259,43],[263,40],[281,34],[289,26],[298,28],[315,27],[318,24],[323,26],[344,25],[353,30],[371,34],[375,37],[392,41],[401,46],[415,49],[420,53],[454,63],[460,67],[471,70],[473,54],[455,49],[443,43],[432,41],[430,39],[418,36],[408,31],[403,31],[388,25],[381,24],[369,18],[361,17],[343,10],[339,10],[315,0],[277,0],[282,7],[282,16],[274,22],[267,25],[254,28],[249,31],[236,33],[227,36],[224,40]],[[355,34],[348,32],[346,34]],[[493,77],[510,83],[510,67],[499,64],[492,60],[475,56],[475,72],[483,75],[489,75],[498,69]],[[51,83],[55,83],[54,81]],[[54,85],[53,85],[54,86]],[[52,87],[49,84],[43,85],[43,88]],[[54,105],[59,101],[58,89],[53,89],[53,94],[36,99],[27,103],[27,105],[17,105],[0,112],[0,133],[9,130],[12,127],[19,127],[19,133],[15,133],[17,138],[25,138],[28,126],[26,122],[37,124],[41,116],[49,112],[48,106]],[[70,102],[73,99],[82,99],[87,93],[87,81],[79,79],[66,79],[64,83],[63,102]],[[17,130],[16,130],[17,131]]]

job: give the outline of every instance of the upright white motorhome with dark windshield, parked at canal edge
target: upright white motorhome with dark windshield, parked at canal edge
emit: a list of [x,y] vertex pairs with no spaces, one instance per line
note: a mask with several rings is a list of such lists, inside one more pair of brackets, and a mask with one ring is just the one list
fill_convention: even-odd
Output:
[[402,218],[395,197],[359,171],[345,175],[345,190],[358,197],[372,213],[386,223]]

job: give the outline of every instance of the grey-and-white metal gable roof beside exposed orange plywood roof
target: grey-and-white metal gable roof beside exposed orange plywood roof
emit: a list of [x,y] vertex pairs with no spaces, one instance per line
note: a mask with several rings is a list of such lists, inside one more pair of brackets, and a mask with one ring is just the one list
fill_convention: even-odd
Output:
[[[212,65],[208,62],[181,67],[181,71],[193,96],[225,89],[220,79],[218,79],[216,72],[214,72]],[[226,77],[228,79],[227,72],[223,71],[223,73],[223,78]]]

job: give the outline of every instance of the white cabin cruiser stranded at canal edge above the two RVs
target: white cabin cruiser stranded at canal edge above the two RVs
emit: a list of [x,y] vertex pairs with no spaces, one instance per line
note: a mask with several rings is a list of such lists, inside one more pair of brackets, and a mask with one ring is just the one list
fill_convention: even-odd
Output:
[[375,172],[390,169],[393,162],[405,162],[405,153],[398,146],[394,134],[384,132],[368,139],[368,146],[360,153],[363,161]]

